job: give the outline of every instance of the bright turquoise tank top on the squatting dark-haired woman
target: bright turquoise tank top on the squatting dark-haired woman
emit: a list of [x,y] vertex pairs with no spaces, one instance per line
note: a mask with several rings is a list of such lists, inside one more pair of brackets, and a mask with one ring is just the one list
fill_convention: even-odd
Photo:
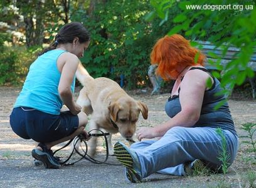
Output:
[[[44,53],[31,64],[15,107],[31,107],[53,115],[60,114],[63,106],[58,93],[61,73],[57,67],[58,57],[65,50],[51,50]],[[71,90],[75,89],[75,76]]]

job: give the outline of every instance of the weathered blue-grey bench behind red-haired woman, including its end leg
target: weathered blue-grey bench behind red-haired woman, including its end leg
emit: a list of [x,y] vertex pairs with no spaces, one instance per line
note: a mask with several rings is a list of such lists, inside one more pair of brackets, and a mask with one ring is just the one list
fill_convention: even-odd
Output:
[[[216,48],[215,45],[211,44],[209,41],[196,41],[198,44],[201,46],[201,51],[205,54],[206,56],[206,61],[205,61],[205,67],[208,70],[217,70],[216,65],[210,63],[210,61],[216,62],[217,59],[213,58],[211,56],[211,53],[215,54],[216,56],[221,56],[222,50],[220,48]],[[228,62],[233,60],[233,55],[239,51],[238,48],[228,48],[228,51],[224,57],[221,56],[220,64],[223,65],[224,67],[227,66]],[[255,73],[256,73],[256,53],[253,54],[251,61],[248,63],[248,67],[250,67]],[[149,78],[151,80],[151,83],[153,85],[153,90],[151,92],[151,95],[159,93],[160,89],[160,83],[161,79],[159,79],[155,75],[156,71],[156,65],[151,65],[149,66],[149,70],[147,72],[147,75],[149,75]],[[252,86],[252,97],[255,98],[255,92],[256,92],[256,86],[255,86],[255,78],[248,78],[250,81],[250,85]]]

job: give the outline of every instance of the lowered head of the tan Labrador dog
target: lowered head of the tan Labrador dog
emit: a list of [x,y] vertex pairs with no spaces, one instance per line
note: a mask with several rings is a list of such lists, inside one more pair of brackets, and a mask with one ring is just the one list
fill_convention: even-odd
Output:
[[136,122],[140,112],[143,118],[147,119],[147,105],[133,98],[119,98],[119,100],[109,105],[110,118],[119,128],[122,137],[128,139],[136,131]]

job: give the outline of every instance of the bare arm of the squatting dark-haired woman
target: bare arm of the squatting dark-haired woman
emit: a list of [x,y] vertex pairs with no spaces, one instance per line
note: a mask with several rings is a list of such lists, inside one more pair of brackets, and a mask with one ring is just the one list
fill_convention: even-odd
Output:
[[[64,53],[60,56],[60,64],[63,65],[61,69],[60,83],[58,85],[58,92],[63,103],[68,107],[73,115],[81,112],[81,107],[73,100],[73,95],[70,86],[72,85],[75,71],[77,71],[78,58],[71,53]],[[59,60],[58,60],[59,61]]]

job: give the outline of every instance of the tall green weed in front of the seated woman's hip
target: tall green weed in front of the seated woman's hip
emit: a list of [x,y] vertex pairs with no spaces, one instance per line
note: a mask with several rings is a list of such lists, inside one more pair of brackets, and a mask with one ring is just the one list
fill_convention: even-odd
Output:
[[228,163],[228,160],[230,159],[230,154],[228,154],[227,150],[227,140],[221,128],[216,128],[216,133],[221,137],[221,151],[219,152],[218,159],[222,162],[221,170],[224,174],[227,174],[228,167],[230,166],[230,164]]

